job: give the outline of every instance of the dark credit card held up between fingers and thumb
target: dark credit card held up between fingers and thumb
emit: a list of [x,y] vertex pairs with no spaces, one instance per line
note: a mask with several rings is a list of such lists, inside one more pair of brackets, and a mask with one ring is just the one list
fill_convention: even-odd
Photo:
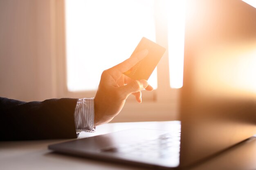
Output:
[[144,59],[139,61],[135,66],[130,68],[130,70],[126,71],[124,75],[127,75],[128,77],[136,80],[148,80],[155,67],[157,66],[158,62],[164,55],[166,49],[156,44],[155,42],[143,37],[130,57],[144,49],[148,50],[148,55]]

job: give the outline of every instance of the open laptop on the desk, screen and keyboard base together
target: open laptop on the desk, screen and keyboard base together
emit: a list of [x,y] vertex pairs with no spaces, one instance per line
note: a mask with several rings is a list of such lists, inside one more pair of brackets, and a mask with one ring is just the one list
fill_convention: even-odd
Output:
[[49,149],[172,169],[203,162],[256,134],[256,9],[241,0],[187,3],[181,127],[175,121],[168,131],[130,129]]

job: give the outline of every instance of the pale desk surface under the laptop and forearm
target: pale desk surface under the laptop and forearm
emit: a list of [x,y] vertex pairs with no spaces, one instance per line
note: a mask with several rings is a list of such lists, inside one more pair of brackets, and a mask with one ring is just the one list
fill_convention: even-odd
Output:
[[[168,130],[179,122],[129,122],[129,123],[110,123],[97,127],[97,132],[82,132],[79,138],[90,137],[118,130],[129,128],[153,128],[159,130]],[[0,169],[26,169],[26,170],[143,170],[144,168],[121,165],[117,163],[108,163],[85,159],[81,157],[72,157],[61,155],[47,149],[49,144],[59,143],[68,140],[42,140],[42,141],[7,141],[0,142]],[[213,157],[193,170],[252,170],[256,169],[256,138],[239,144],[238,146],[227,150],[226,152]]]

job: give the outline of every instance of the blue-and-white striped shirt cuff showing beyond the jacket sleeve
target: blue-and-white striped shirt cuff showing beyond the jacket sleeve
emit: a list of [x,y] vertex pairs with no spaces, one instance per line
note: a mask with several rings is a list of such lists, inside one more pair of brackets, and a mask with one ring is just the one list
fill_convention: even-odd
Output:
[[94,132],[94,98],[78,99],[75,113],[76,132]]

